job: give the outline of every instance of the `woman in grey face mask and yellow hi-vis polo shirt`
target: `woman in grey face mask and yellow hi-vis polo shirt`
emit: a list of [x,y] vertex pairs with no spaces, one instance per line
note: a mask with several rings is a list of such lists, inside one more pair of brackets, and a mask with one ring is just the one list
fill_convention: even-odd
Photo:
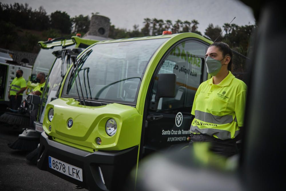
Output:
[[230,71],[233,54],[227,44],[211,44],[205,56],[212,78],[200,84],[195,94],[190,143],[211,142],[211,151],[229,157],[237,153],[247,86]]

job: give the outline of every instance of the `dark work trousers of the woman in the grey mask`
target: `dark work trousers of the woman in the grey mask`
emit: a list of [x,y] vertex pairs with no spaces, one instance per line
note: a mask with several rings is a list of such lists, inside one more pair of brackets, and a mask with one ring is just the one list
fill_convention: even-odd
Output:
[[191,134],[190,138],[189,145],[193,142],[210,142],[210,151],[225,157],[230,157],[238,153],[236,141],[232,139],[221,140],[204,134]]

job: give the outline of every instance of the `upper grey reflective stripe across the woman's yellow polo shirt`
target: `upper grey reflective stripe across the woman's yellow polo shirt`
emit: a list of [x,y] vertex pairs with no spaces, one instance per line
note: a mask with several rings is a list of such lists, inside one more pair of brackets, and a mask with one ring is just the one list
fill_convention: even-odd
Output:
[[195,110],[195,118],[200,121],[204,121],[207,123],[214,123],[218,125],[231,123],[233,121],[231,115],[217,116],[217,115],[212,115],[211,113],[198,110]]

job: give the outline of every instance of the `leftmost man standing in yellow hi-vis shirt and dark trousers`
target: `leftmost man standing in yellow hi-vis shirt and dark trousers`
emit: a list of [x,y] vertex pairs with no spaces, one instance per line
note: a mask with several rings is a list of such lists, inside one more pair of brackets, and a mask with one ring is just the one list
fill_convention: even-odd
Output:
[[20,107],[23,92],[26,90],[26,80],[23,78],[23,70],[17,70],[16,78],[10,84],[8,98],[10,100],[9,107],[11,109],[18,109]]

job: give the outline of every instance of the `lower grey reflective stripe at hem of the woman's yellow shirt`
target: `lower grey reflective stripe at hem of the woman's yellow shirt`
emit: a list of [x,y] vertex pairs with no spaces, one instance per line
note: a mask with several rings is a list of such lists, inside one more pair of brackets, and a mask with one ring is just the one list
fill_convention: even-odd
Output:
[[200,129],[198,126],[191,125],[190,128],[192,133],[203,133],[210,136],[217,136],[219,139],[225,140],[225,139],[231,139],[231,132],[221,129],[212,129],[212,128],[204,128]]

